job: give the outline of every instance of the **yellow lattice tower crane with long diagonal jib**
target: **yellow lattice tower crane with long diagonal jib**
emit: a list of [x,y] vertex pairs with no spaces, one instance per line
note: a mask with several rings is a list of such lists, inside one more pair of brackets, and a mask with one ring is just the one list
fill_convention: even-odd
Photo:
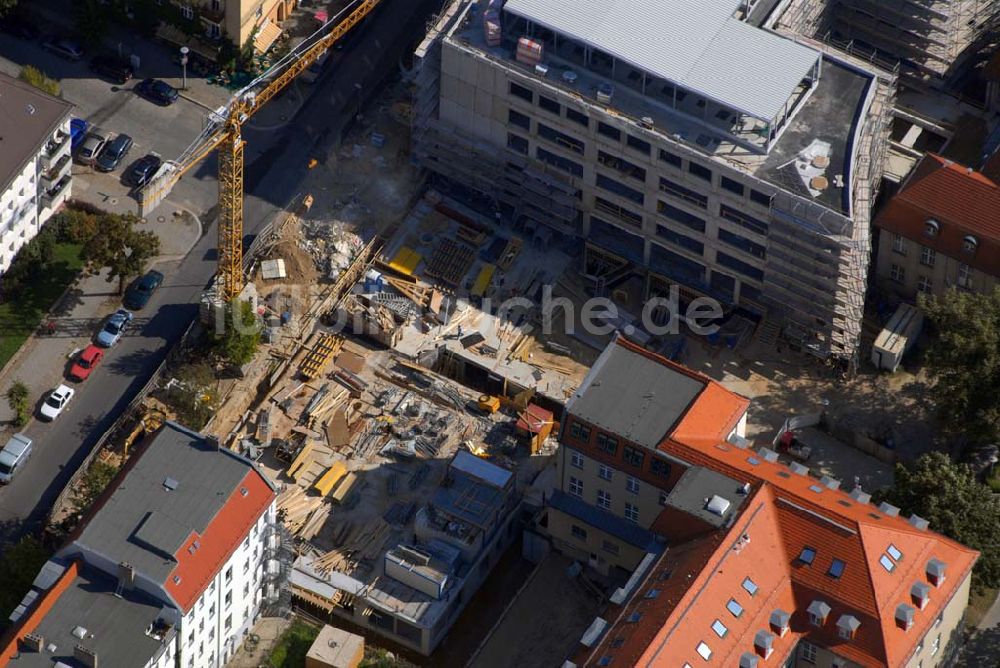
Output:
[[[219,297],[227,302],[243,290],[243,124],[312,65],[337,40],[372,12],[381,0],[355,0],[266,72],[210,114],[201,134],[177,160],[139,193],[146,212],[166,197],[184,174],[219,151]],[[349,13],[348,13],[349,12]],[[346,16],[344,16],[346,14]]]

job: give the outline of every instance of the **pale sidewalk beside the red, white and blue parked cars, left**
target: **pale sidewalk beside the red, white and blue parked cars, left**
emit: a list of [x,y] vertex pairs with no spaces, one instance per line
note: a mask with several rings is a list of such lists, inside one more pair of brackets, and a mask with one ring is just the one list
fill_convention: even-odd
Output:
[[[106,203],[95,202],[107,209]],[[160,237],[160,256],[153,266],[176,262],[183,258],[201,237],[201,223],[189,213],[174,216],[179,211],[168,201],[158,210],[157,220],[141,224]],[[159,218],[163,220],[158,220]],[[0,369],[0,425],[8,426],[14,414],[7,404],[7,390],[14,380],[28,386],[32,406],[49,390],[64,382],[69,361],[74,353],[85,348],[93,339],[101,320],[121,305],[117,282],[108,282],[107,273],[83,276],[71,286],[52,307],[49,318],[56,323],[52,336],[32,335],[10,362]],[[138,324],[146,316],[137,317]],[[2,427],[0,427],[2,429]]]

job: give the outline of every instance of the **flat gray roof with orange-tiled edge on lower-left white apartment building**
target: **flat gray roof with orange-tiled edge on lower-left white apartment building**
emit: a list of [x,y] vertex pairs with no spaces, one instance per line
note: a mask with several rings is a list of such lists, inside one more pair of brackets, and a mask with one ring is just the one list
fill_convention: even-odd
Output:
[[[171,555],[192,531],[205,531],[251,467],[168,422],[75,542],[165,584],[175,566]],[[176,489],[167,489],[167,478]]]

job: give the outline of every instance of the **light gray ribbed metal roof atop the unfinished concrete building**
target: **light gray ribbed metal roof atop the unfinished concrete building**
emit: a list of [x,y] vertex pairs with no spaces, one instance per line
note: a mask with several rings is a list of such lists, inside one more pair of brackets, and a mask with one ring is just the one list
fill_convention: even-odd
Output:
[[820,58],[733,18],[740,0],[508,0],[504,9],[761,119]]

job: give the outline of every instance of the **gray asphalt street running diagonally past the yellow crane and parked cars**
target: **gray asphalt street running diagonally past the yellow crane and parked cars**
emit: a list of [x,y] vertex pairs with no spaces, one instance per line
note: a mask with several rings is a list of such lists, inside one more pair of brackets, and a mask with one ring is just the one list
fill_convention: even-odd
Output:
[[[272,101],[278,112],[269,114],[265,109],[245,128],[245,235],[253,235],[299,194],[316,143],[324,142],[324,147],[339,143],[340,133],[362,103],[359,98],[370,98],[379,84],[396,71],[413,40],[422,36],[427,16],[439,6],[439,0],[412,4],[383,0],[382,6],[356,29],[350,48],[331,58],[317,84],[293,84],[291,90]],[[392,9],[409,13],[400,16]],[[7,59],[0,60],[5,71],[11,69],[9,61],[13,60],[37,64],[51,76],[63,79],[64,97],[77,105],[77,115],[103,129],[132,135],[136,146],[126,164],[151,150],[164,158],[174,157],[201,129],[206,110],[198,104],[181,99],[170,107],[157,107],[94,78],[85,64],[61,61],[43,53],[37,45],[2,35],[0,57]],[[133,85],[129,82],[126,88]],[[288,108],[295,113],[281,111]],[[215,273],[215,169],[214,158],[206,160],[153,214],[168,215],[172,206],[184,207],[201,218],[205,234],[182,260],[158,266],[166,280],[137,314],[141,326],[110,351],[57,421],[44,424],[33,420],[25,429],[35,440],[35,452],[14,481],[0,489],[0,543],[16,539],[44,518],[94,443],[147,382],[197,314],[200,294]],[[74,166],[75,197],[98,204],[103,201],[110,210],[134,211],[134,202],[126,198],[124,187],[117,183],[117,173],[109,177],[89,172]]]

